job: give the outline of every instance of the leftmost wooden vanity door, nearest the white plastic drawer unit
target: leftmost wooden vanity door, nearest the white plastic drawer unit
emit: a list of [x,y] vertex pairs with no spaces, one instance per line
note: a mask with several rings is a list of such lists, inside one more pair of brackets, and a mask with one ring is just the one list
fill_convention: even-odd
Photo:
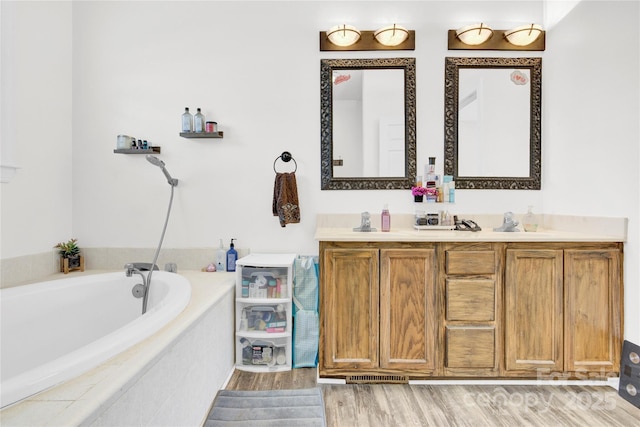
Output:
[[323,252],[320,370],[378,367],[378,249]]

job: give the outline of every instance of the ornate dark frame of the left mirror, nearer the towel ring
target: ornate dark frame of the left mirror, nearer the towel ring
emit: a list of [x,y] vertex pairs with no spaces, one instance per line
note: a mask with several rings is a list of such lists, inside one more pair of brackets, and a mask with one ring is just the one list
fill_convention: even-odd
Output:
[[[405,176],[334,177],[332,75],[340,69],[403,69],[405,114]],[[322,59],[320,61],[320,159],[322,190],[391,190],[411,188],[416,175],[415,58]]]

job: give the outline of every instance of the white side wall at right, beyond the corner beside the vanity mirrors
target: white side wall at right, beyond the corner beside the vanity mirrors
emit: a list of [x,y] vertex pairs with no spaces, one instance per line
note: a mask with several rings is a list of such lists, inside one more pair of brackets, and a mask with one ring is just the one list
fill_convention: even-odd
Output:
[[625,337],[636,343],[640,342],[639,18],[638,2],[578,4],[547,34],[542,77],[544,210],[629,218],[624,329]]

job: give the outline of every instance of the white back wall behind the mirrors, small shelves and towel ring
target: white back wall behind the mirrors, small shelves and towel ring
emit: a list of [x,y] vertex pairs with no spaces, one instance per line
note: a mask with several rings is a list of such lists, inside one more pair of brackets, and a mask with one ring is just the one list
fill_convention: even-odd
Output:
[[[318,212],[378,212],[385,202],[392,212],[410,212],[412,198],[402,191],[320,191],[320,58],[417,57],[419,164],[435,155],[441,168],[446,32],[487,10],[510,25],[542,16],[537,2],[74,4],[74,175],[89,178],[74,182],[76,234],[87,246],[158,240],[169,189],[142,156],[112,154],[119,133],[161,145],[167,168],[181,180],[167,247],[236,237],[252,251],[315,253]],[[363,29],[406,23],[416,29],[418,48],[319,52],[318,32],[343,20]],[[180,138],[184,106],[202,107],[225,138]],[[271,215],[273,162],[283,150],[298,164],[302,212],[301,224],[284,229]],[[504,196],[492,193],[486,207],[460,209],[524,211],[540,200],[537,192]]]

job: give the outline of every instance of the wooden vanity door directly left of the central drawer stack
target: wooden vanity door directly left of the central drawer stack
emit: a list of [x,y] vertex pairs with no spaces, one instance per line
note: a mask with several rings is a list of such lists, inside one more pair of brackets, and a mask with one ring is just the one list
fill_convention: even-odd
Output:
[[380,252],[380,368],[435,369],[435,249]]

